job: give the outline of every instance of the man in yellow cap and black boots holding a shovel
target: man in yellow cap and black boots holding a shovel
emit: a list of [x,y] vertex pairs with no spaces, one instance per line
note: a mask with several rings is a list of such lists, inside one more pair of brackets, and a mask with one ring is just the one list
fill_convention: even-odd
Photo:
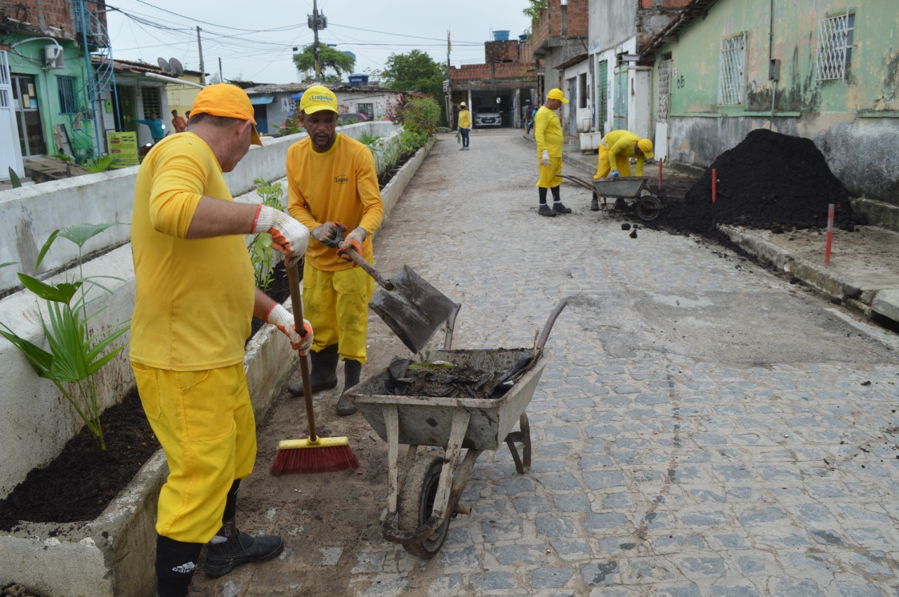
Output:
[[[374,262],[371,234],[384,218],[384,206],[371,151],[335,131],[334,93],[313,85],[303,93],[299,110],[299,122],[309,136],[288,150],[288,210],[314,239],[303,268],[304,313],[316,329],[309,381],[312,391],[334,388],[337,361],[343,359],[345,392],[359,382],[366,361],[369,300],[375,285],[365,270],[340,253],[352,247]],[[298,396],[303,393],[300,382],[288,389]],[[343,392],[337,414],[352,415],[356,407]]]

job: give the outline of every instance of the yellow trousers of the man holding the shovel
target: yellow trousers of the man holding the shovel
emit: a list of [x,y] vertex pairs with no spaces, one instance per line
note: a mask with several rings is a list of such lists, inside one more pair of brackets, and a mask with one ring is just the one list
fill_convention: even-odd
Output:
[[375,281],[360,267],[323,271],[303,268],[303,316],[315,334],[312,350],[336,344],[344,360],[365,364],[369,301]]

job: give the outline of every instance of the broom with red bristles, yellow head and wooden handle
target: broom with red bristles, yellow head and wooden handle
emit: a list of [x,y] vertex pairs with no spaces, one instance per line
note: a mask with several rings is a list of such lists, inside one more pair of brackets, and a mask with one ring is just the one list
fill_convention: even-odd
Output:
[[[303,301],[299,295],[299,275],[296,263],[287,264],[287,277],[290,285],[290,302],[293,304],[293,318],[302,326]],[[359,461],[352,453],[349,438],[316,435],[316,416],[312,410],[312,386],[309,383],[309,362],[308,357],[302,353],[299,353],[299,371],[303,376],[303,397],[306,399],[309,436],[304,439],[279,442],[278,454],[271,463],[271,474],[289,475],[358,469]]]

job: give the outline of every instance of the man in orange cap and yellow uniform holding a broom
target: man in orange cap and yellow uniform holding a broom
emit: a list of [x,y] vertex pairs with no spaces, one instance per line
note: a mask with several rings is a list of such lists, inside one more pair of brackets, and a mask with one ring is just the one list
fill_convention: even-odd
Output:
[[245,240],[271,233],[273,248],[299,259],[306,227],[269,206],[236,203],[222,177],[262,145],[250,99],[234,85],[210,85],[191,111],[187,131],[141,164],[131,220],[131,366],[169,467],[156,517],[159,597],[188,594],[207,542],[211,576],[283,549],[280,538],[252,537],[235,522],[237,488],[256,456],[244,343],[256,317],[295,348],[312,344],[308,322],[301,338],[293,315],[254,287]]

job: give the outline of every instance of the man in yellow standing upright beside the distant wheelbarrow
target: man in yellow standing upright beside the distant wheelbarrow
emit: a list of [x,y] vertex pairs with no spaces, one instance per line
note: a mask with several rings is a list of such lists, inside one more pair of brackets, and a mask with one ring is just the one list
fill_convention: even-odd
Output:
[[[539,215],[552,217],[556,214],[570,214],[571,209],[562,205],[559,198],[559,184],[562,179],[556,174],[562,173],[562,144],[565,136],[562,134],[562,123],[556,114],[556,110],[562,104],[568,103],[561,89],[550,89],[547,93],[547,101],[534,116],[534,140],[537,142],[537,159],[539,161],[540,178],[537,181],[540,206]],[[547,206],[547,189],[553,193],[553,206]]]

